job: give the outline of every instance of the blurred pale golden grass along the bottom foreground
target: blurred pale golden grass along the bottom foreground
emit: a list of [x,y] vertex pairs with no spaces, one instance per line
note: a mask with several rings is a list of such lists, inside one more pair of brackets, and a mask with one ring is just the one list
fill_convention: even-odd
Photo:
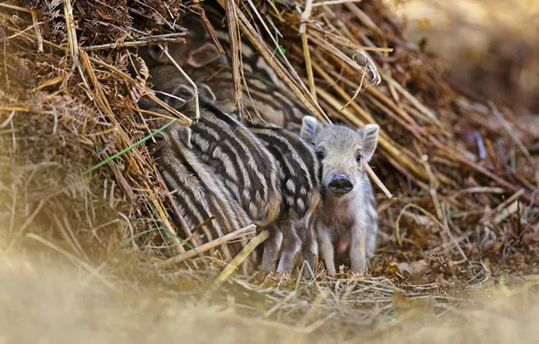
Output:
[[[438,315],[429,307],[392,301],[380,308],[393,307],[394,315],[373,319],[339,300],[344,285],[326,290],[328,302],[288,294],[265,310],[260,297],[245,315],[238,309],[242,302],[236,302],[245,297],[240,291],[228,295],[229,303],[208,305],[170,278],[137,272],[129,263],[122,269],[87,268],[38,245],[31,251],[4,257],[0,267],[2,343],[527,344],[539,339],[539,303],[529,292],[531,284],[481,291],[459,305],[439,305]],[[289,319],[298,308],[304,309],[301,316]]]

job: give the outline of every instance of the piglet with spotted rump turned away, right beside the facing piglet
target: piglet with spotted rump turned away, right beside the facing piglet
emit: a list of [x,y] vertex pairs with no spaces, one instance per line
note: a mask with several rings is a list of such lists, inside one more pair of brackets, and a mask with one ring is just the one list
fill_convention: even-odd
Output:
[[[318,260],[312,215],[320,201],[318,161],[312,148],[286,129],[251,126],[250,129],[266,145],[277,160],[282,188],[279,219],[274,224],[282,233],[282,250],[278,272],[290,272],[296,255],[316,269]],[[277,243],[266,242],[270,253],[264,256],[262,268],[273,270],[279,249]]]

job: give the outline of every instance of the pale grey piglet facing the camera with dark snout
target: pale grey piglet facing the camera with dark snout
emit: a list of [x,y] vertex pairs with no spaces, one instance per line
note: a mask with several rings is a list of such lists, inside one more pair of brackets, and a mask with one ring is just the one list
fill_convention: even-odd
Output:
[[364,272],[367,258],[374,256],[378,215],[362,159],[373,158],[378,131],[376,124],[352,129],[323,125],[311,116],[303,119],[301,138],[314,145],[321,164],[317,236],[330,274],[336,273],[336,253],[345,253],[352,272],[357,273]]

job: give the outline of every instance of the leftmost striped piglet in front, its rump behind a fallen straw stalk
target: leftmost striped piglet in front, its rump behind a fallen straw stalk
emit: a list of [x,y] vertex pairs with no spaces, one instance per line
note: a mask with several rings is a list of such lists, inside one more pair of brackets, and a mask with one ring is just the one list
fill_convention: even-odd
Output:
[[[214,217],[194,232],[194,240],[200,245],[250,225],[252,221],[222,182],[213,177],[211,170],[194,154],[190,148],[190,131],[191,129],[179,124],[173,125],[165,129],[157,138],[157,143],[150,148],[156,159],[157,169],[173,194],[187,226],[193,229]],[[243,237],[239,242],[220,246],[222,260],[230,262],[248,243],[248,239]],[[252,253],[241,264],[241,271],[252,272],[257,263],[257,253]]]

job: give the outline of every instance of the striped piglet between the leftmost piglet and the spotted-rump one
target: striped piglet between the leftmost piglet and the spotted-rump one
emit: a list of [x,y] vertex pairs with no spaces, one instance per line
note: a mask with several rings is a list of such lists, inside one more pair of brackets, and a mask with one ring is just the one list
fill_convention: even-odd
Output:
[[[171,95],[190,89],[185,81],[171,83]],[[191,100],[192,96],[185,97]],[[187,99],[189,98],[189,99]],[[221,178],[231,196],[256,225],[269,225],[279,215],[281,192],[275,159],[259,139],[239,121],[199,97],[200,119],[194,120],[194,151]],[[170,101],[167,101],[170,103]],[[178,102],[185,116],[195,119],[194,101]]]

